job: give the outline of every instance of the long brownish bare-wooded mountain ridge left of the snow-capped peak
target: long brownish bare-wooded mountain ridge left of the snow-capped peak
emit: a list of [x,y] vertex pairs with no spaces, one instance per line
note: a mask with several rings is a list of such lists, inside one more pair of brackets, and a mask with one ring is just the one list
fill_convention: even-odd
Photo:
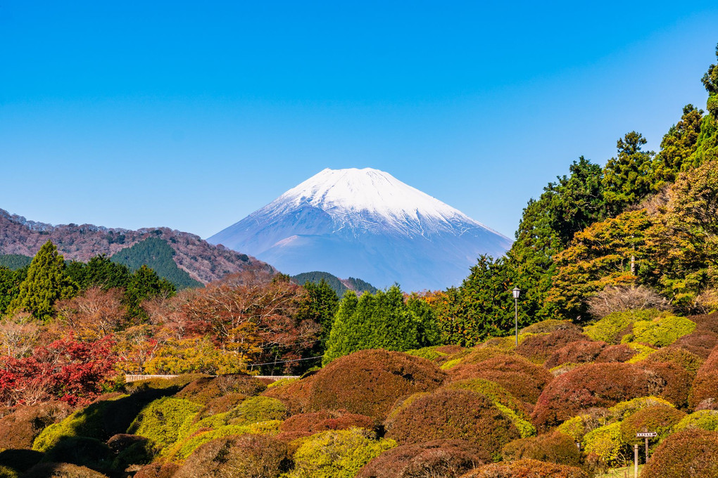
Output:
[[167,242],[174,251],[172,260],[177,267],[187,272],[192,280],[202,284],[247,269],[275,271],[271,265],[247,254],[214,246],[200,236],[167,227],[133,231],[93,224],[54,226],[28,221],[22,216],[0,209],[0,254],[32,257],[42,244],[51,240],[65,259],[87,262],[98,254],[112,257],[122,249],[150,238]]

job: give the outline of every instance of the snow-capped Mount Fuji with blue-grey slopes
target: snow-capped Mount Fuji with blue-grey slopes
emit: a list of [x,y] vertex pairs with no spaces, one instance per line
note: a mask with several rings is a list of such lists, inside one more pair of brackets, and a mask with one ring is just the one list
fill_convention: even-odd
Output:
[[321,270],[404,290],[459,285],[511,240],[377,169],[325,169],[207,239],[281,272]]

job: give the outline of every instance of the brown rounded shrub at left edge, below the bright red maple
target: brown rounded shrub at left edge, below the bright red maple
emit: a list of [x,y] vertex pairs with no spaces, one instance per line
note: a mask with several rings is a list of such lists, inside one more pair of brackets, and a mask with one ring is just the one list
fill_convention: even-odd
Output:
[[20,406],[0,419],[0,449],[32,448],[32,442],[47,426],[70,415],[64,402],[46,402]]

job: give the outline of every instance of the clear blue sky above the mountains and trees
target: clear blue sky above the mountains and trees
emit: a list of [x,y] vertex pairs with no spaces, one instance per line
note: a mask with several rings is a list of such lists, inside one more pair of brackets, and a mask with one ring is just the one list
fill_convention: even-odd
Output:
[[0,0],[0,208],[207,237],[369,166],[513,236],[705,107],[715,1],[587,3]]

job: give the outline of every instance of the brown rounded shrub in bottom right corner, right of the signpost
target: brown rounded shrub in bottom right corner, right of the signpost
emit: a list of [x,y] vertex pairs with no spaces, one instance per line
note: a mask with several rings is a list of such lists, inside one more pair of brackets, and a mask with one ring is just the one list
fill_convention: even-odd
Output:
[[701,429],[679,431],[658,445],[641,478],[718,477],[718,433]]

